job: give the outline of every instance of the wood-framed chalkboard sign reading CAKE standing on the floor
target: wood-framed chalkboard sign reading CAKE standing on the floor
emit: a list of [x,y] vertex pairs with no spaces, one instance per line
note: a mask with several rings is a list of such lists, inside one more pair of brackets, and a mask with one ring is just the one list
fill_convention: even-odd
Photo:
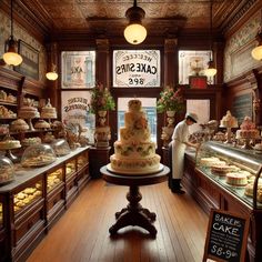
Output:
[[249,219],[212,209],[203,261],[212,259],[220,262],[243,262],[248,234]]

